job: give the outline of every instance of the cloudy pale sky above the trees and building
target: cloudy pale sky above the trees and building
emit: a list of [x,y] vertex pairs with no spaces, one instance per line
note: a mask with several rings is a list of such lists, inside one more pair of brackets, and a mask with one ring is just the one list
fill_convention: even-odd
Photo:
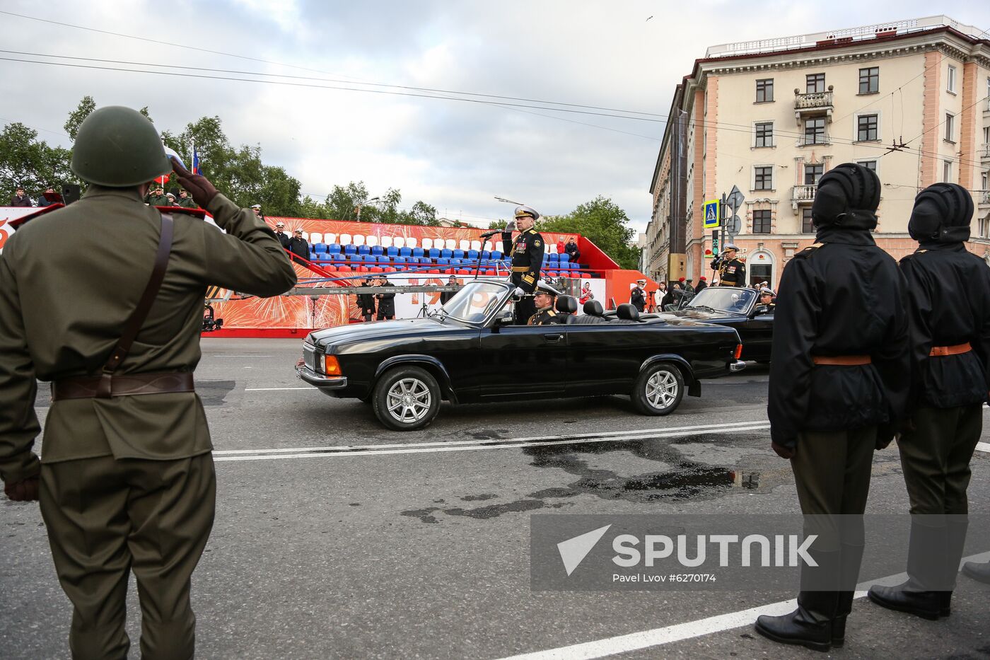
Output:
[[[363,180],[372,195],[396,187],[404,206],[423,199],[441,215],[487,226],[511,211],[495,195],[558,214],[601,194],[642,231],[674,86],[706,47],[940,13],[990,28],[982,2],[905,0],[896,10],[883,4],[829,2],[826,10],[825,3],[741,0],[0,0],[0,123],[22,122],[67,147],[62,125],[86,94],[98,106],[147,105],[159,130],[180,131],[218,115],[232,143],[260,145],[266,164],[285,167],[313,196]],[[273,84],[9,58],[296,77],[266,76],[293,83]],[[402,86],[470,92],[478,96],[458,96],[489,103]],[[629,111],[660,116],[602,116]]]

